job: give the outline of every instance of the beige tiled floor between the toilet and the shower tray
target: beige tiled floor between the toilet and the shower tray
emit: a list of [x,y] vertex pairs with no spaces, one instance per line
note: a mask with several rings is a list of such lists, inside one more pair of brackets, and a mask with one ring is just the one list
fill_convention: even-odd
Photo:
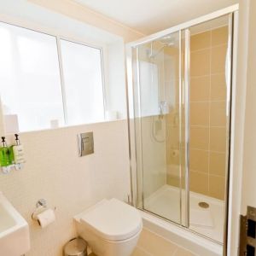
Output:
[[195,256],[195,254],[144,229],[131,256]]

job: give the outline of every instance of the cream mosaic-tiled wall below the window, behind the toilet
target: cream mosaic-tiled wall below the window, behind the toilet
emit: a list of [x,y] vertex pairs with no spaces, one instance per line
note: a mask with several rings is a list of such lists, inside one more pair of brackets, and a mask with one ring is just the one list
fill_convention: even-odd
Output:
[[[77,134],[84,131],[94,132],[95,154],[80,158]],[[29,224],[32,248],[26,255],[61,256],[62,246],[76,236],[75,214],[103,198],[126,200],[130,193],[126,121],[23,133],[20,141],[25,167],[1,173],[0,190]],[[40,198],[56,207],[55,223],[44,230],[31,218]]]

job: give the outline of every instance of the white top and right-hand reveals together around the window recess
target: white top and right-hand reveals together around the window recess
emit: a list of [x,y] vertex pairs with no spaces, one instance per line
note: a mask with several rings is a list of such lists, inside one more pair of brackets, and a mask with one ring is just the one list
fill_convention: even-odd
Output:
[[125,119],[125,38],[26,0],[0,0],[0,21],[102,48],[105,108]]

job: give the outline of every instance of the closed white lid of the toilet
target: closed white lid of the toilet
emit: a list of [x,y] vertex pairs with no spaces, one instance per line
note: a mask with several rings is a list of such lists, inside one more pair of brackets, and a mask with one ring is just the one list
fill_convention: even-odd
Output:
[[128,239],[143,227],[137,209],[114,198],[91,207],[80,221],[98,236],[111,241]]

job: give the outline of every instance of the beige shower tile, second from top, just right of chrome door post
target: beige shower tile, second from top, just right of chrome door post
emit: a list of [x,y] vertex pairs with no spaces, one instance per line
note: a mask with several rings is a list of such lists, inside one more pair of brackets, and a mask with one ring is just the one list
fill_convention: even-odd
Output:
[[202,49],[192,52],[190,55],[191,76],[204,76],[210,73],[210,49]]

